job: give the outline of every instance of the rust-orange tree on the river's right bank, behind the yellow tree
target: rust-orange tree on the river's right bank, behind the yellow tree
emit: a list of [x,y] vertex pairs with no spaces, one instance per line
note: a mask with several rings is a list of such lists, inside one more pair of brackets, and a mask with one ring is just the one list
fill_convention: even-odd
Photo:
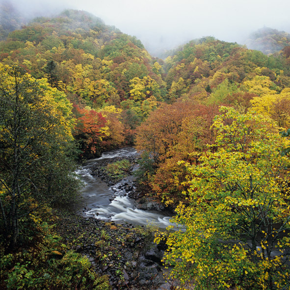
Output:
[[178,203],[183,199],[185,187],[180,179],[185,177],[186,169],[177,162],[198,162],[198,154],[213,142],[211,124],[215,113],[215,107],[191,102],[162,105],[137,129],[141,160],[136,174],[143,182],[147,178],[163,202]]

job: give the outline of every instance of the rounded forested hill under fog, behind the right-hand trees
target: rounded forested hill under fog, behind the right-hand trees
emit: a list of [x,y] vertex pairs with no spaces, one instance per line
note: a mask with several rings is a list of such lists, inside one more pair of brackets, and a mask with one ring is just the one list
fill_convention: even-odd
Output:
[[[165,59],[165,81],[172,99],[181,96],[220,104],[211,92],[225,79],[230,86],[241,87],[255,76],[267,78],[276,89],[288,87],[290,70],[285,56],[266,56],[237,43],[212,37],[194,40]],[[279,88],[280,87],[280,88]],[[224,95],[225,97],[225,95]]]

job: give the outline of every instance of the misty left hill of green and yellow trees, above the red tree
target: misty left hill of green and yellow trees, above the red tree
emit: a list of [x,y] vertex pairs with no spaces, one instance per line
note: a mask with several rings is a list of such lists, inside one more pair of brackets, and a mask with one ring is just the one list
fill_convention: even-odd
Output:
[[135,83],[147,78],[143,82],[150,93],[143,100],[164,96],[160,73],[154,72],[154,61],[142,43],[87,12],[66,10],[55,18],[37,18],[11,32],[0,52],[2,63],[19,63],[33,77],[46,76],[53,86],[96,107],[116,94],[116,105],[133,99],[134,78],[140,79]]

